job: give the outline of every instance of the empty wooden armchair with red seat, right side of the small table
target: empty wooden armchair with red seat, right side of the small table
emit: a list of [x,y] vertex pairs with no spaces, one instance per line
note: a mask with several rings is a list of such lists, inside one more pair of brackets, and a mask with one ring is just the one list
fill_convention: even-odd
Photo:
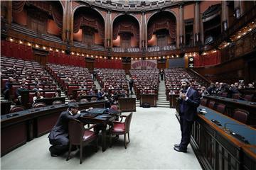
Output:
[[129,115],[121,115],[120,118],[125,118],[124,122],[122,122],[122,119],[120,121],[114,121],[112,128],[110,129],[110,146],[112,146],[111,135],[124,135],[124,147],[127,149],[126,136],[128,134],[128,141],[130,142],[129,127],[132,120],[132,113],[129,113]]

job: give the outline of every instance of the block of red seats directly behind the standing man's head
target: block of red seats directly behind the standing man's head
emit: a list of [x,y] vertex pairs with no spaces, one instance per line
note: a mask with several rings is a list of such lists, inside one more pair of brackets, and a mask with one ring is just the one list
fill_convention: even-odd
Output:
[[178,91],[181,89],[181,79],[188,79],[191,81],[193,88],[197,89],[198,86],[205,86],[206,81],[198,77],[192,72],[188,72],[184,68],[171,68],[164,69],[164,77],[166,84],[166,100],[169,101],[169,92],[174,91],[175,94],[178,94]]

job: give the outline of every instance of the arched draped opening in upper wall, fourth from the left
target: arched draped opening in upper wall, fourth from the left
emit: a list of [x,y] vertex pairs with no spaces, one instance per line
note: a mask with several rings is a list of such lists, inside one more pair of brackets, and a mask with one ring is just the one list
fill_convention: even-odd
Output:
[[171,50],[170,47],[175,48],[176,27],[176,17],[169,11],[162,11],[151,16],[147,24],[148,47],[156,48],[156,50],[160,47],[164,47],[164,50]]

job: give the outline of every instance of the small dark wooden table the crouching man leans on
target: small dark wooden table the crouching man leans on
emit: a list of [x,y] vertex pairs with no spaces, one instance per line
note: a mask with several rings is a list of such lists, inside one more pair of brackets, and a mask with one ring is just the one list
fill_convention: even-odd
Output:
[[[116,118],[119,117],[119,115],[121,115],[121,113],[119,113],[118,115],[108,115],[108,114],[102,114],[102,115],[97,115],[95,118],[90,118],[90,117],[84,117],[84,114],[81,113],[81,116],[79,118],[79,120],[82,121],[82,123],[90,123],[90,124],[98,124],[100,125],[100,130],[102,131],[102,152],[105,152],[106,148],[107,148],[107,141],[106,141],[106,137],[107,137],[107,132],[106,132],[106,128],[107,125],[112,124],[112,122],[114,122],[114,120]],[[108,118],[105,118],[104,116],[110,116]]]

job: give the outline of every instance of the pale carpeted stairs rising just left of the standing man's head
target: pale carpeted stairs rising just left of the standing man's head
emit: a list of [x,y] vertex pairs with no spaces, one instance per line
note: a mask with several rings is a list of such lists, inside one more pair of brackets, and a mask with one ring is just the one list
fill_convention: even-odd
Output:
[[158,100],[156,101],[156,106],[159,108],[170,108],[169,101],[166,101],[166,86],[164,80],[159,83],[159,93]]

